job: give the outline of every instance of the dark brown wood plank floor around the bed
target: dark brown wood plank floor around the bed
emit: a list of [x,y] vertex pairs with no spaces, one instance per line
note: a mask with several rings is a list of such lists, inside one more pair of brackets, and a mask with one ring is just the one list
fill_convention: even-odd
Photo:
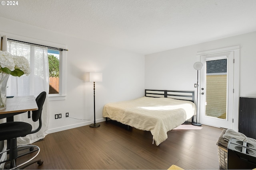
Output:
[[100,127],[78,127],[48,134],[36,142],[42,166],[27,169],[219,169],[216,141],[222,129],[202,125],[200,130],[172,130],[159,146],[152,135],[113,121]]

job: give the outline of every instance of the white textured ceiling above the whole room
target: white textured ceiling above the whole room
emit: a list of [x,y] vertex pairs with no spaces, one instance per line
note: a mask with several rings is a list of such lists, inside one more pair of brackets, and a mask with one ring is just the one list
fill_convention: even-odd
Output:
[[18,3],[18,6],[1,5],[0,17],[140,54],[256,31],[256,0],[18,0]]

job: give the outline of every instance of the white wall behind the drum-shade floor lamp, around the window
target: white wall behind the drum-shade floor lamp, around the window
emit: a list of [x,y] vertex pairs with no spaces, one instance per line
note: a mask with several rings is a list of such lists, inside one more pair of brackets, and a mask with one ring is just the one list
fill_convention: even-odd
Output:
[[[0,34],[9,38],[33,39],[33,43],[66,45],[66,100],[50,101],[49,133],[88,125],[93,116],[93,83],[84,82],[85,72],[102,72],[103,82],[96,82],[96,121],[102,117],[104,104],[131,100],[144,95],[144,55],[62,35],[24,23],[0,18]],[[62,113],[61,119],[54,114]]]

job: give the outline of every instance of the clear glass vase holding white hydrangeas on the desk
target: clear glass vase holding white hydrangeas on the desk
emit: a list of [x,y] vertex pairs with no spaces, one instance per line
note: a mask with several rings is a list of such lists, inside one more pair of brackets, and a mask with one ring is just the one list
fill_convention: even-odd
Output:
[[0,73],[0,110],[6,108],[6,86],[10,74]]

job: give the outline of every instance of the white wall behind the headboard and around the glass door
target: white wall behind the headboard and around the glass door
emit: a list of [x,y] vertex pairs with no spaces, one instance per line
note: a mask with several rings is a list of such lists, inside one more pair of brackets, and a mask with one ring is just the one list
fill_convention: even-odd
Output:
[[196,91],[197,71],[193,64],[200,61],[196,54],[237,45],[240,46],[240,61],[236,61],[240,63],[240,96],[256,97],[256,32],[146,55],[145,88]]

